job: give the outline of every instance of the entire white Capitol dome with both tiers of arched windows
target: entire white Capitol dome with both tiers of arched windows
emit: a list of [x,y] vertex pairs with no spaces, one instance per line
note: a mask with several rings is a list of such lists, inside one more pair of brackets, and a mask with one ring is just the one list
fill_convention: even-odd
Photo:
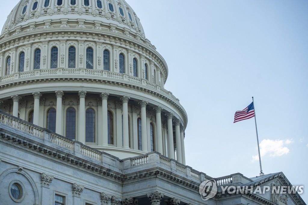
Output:
[[187,114],[167,77],[124,0],[21,0],[0,35],[0,109],[61,146],[185,164]]

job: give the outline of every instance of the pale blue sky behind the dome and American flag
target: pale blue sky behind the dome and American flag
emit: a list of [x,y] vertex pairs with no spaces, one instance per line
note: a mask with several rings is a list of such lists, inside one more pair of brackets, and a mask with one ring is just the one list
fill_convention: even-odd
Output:
[[[2,3],[1,25],[17,2]],[[259,175],[254,119],[233,124],[253,96],[263,172],[308,186],[308,1],[127,2],[188,114],[186,164],[212,177]]]

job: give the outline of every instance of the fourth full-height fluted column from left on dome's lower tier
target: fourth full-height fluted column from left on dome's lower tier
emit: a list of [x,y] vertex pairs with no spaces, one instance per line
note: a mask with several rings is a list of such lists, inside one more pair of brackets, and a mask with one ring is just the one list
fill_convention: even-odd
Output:
[[87,91],[79,91],[79,120],[78,120],[78,141],[83,144],[86,142],[86,110],[85,98]]

